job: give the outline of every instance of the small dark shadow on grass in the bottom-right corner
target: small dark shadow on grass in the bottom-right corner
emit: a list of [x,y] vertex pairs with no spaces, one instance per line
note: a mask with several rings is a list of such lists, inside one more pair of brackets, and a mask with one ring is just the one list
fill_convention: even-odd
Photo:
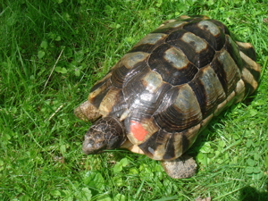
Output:
[[[267,183],[265,184],[267,188]],[[268,192],[259,192],[255,188],[245,187],[240,190],[239,201],[264,201],[268,200]]]

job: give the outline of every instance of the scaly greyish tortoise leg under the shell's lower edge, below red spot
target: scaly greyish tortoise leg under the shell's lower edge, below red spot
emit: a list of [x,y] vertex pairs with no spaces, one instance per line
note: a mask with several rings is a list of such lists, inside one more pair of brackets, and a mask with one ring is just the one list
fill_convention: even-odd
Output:
[[181,155],[172,161],[163,161],[164,171],[173,179],[189,178],[196,174],[197,163],[189,155]]

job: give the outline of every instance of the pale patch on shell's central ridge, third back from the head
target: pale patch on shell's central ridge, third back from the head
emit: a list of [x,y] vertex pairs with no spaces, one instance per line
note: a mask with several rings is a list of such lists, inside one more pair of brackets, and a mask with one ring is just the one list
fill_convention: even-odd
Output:
[[190,32],[183,34],[181,40],[192,45],[195,48],[196,53],[200,53],[207,47],[207,44],[202,38],[199,38],[195,34],[192,34]]

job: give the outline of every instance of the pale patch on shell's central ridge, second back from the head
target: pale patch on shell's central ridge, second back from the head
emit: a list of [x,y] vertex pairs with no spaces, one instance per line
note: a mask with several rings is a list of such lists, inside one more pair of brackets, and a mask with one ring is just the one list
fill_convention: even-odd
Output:
[[172,63],[172,66],[174,66],[178,70],[186,67],[189,63],[186,55],[180,49],[175,47],[171,47],[166,50],[163,58],[167,62]]

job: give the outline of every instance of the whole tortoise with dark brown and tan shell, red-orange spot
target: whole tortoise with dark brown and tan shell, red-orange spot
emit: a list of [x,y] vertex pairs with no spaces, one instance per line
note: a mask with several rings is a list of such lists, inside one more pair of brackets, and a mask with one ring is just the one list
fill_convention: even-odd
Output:
[[260,71],[254,47],[236,41],[222,22],[202,15],[165,21],[75,109],[95,121],[82,149],[127,148],[162,161],[172,178],[191,177],[197,163],[186,151],[214,116],[255,91]]

